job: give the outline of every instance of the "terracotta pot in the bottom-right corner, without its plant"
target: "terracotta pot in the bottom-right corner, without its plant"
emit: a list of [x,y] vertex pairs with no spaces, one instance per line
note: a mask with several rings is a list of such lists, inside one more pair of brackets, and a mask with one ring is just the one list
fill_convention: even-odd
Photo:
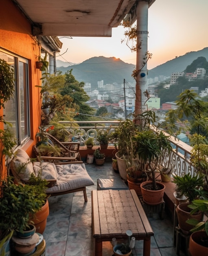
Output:
[[196,231],[191,234],[189,240],[189,252],[191,256],[205,256],[208,255],[208,247],[201,244],[201,240],[206,240],[208,243],[208,236],[205,231]]

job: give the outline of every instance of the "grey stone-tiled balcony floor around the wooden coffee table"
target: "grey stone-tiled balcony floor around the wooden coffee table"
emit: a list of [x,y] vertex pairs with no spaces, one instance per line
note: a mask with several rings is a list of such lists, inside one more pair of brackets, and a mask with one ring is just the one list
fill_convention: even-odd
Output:
[[[88,202],[84,202],[83,192],[48,199],[50,214],[43,234],[46,256],[96,256],[91,228],[91,191],[97,189],[98,178],[120,179],[120,175],[112,169],[110,162],[105,162],[103,166],[86,164],[86,169],[95,183],[87,187]],[[168,216],[161,220],[158,214],[153,214],[149,222],[154,231],[151,237],[151,256],[175,256],[173,223]],[[142,256],[142,247],[143,241],[136,241],[133,255]],[[103,243],[103,256],[112,254],[111,243]]]

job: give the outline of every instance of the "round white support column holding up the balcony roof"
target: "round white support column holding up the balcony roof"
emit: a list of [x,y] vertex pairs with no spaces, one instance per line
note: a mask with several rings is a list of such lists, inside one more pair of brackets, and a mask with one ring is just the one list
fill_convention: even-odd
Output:
[[[144,106],[144,92],[147,90],[147,64],[145,53],[147,53],[148,38],[148,0],[139,0],[137,4],[137,53],[136,53],[136,70],[139,71],[136,76],[136,100],[135,113],[140,114]],[[141,70],[142,68],[142,70]]]

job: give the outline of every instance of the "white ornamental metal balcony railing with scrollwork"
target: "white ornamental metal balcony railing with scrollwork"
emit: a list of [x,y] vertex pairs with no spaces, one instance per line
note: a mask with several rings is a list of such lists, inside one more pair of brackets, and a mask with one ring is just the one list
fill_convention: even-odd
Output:
[[[84,143],[88,137],[92,137],[95,145],[99,145],[99,142],[96,140],[98,130],[108,130],[113,132],[114,129],[118,126],[120,121],[60,121],[61,124],[68,124],[66,129],[72,134],[73,139],[80,141],[81,146],[84,146]],[[75,124],[80,125],[79,127]],[[92,126],[81,126],[81,124],[93,124]],[[169,135],[165,133],[166,135]],[[170,162],[173,166],[173,174],[175,175],[184,175],[190,173],[194,174],[194,167],[190,164],[190,154],[192,147],[183,141],[174,138],[173,136],[169,137],[171,141],[173,150],[171,155],[166,155],[164,162]],[[112,141],[112,145],[114,142]],[[170,159],[169,159],[170,157]]]

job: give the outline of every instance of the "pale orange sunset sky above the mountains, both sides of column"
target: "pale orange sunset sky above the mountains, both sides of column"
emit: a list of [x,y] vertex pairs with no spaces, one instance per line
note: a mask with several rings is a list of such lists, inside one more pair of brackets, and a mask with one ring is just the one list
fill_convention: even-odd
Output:
[[[149,8],[148,70],[175,56],[208,47],[208,0],[156,0]],[[116,57],[136,64],[136,53],[121,43],[125,29],[112,29],[111,38],[60,38],[63,54],[57,59],[81,63],[94,56]]]

